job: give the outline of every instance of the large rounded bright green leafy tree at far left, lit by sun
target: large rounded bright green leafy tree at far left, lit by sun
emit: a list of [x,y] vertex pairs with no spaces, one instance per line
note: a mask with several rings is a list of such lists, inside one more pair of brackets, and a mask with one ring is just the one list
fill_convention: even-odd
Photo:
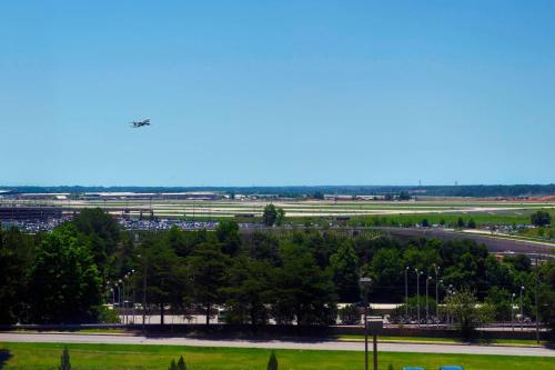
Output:
[[101,278],[90,250],[72,224],[50,232],[37,249],[30,272],[31,316],[36,322],[80,322],[94,318]]

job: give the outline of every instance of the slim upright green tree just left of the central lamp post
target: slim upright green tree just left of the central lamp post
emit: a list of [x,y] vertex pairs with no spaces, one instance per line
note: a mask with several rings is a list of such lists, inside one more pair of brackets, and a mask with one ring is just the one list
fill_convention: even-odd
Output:
[[356,302],[359,291],[359,257],[351,241],[340,244],[337,251],[330,258],[333,281],[341,302]]

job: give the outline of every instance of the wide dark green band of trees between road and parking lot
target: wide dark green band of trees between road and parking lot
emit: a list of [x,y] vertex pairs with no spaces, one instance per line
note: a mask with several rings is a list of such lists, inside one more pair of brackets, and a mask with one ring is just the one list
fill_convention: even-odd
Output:
[[[0,322],[83,322],[105,319],[102,303],[123,277],[125,290],[148,308],[202,310],[215,306],[234,323],[326,324],[337,302],[361,300],[359,279],[374,281],[371,301],[414,296],[420,271],[446,287],[491,302],[500,320],[512,293],[524,290],[525,313],[555,328],[555,264],[534,268],[524,256],[503,261],[467,240],[398,242],[375,234],[319,230],[240,233],[235,222],[215,232],[127,232],[101,210],[85,210],[52,232],[0,230]],[[129,272],[134,271],[130,274]],[[349,314],[349,312],[343,312]],[[351,312],[352,316],[352,312]]]

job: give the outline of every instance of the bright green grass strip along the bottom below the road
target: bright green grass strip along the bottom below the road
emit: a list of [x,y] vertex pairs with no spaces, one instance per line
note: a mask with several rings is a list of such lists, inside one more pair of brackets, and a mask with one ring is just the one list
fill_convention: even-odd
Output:
[[[63,344],[0,343],[0,369],[58,369]],[[178,346],[69,344],[72,370],[165,370],[172,358],[183,356],[190,370],[263,370],[270,350],[193,348]],[[278,350],[280,369],[360,370],[363,353],[349,351]],[[3,362],[3,367],[2,367]],[[458,356],[426,353],[380,353],[380,369],[389,364],[401,369],[418,364],[437,369],[441,364],[462,364],[466,370],[555,369],[554,358]]]

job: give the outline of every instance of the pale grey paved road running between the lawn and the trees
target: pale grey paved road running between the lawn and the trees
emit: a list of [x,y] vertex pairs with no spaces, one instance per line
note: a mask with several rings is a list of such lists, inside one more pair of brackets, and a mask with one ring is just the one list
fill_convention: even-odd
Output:
[[[160,338],[114,334],[74,333],[0,333],[0,342],[54,342],[108,344],[162,344],[190,347],[229,347],[297,350],[363,351],[364,342],[344,341],[281,341],[281,340],[214,340],[191,338]],[[370,346],[372,349],[372,346]],[[470,346],[470,344],[411,344],[379,343],[380,351],[417,353],[458,353],[497,356],[539,356],[555,358],[555,350],[538,347]]]

